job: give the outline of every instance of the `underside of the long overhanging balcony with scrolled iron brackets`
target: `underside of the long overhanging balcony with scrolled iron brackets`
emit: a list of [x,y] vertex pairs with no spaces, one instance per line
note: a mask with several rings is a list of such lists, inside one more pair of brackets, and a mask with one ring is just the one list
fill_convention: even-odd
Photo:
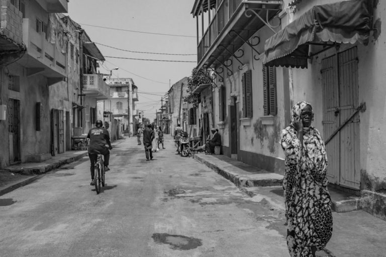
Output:
[[[226,61],[231,58],[231,53],[238,51],[245,42],[266,25],[266,21],[272,20],[282,10],[282,7],[282,0],[242,1],[224,29],[219,32],[219,36],[210,44],[210,49],[201,60],[198,60],[197,68],[222,66],[222,60]],[[249,14],[248,10],[250,10]],[[252,12],[256,15],[251,14]],[[221,58],[211,58],[212,56]]]

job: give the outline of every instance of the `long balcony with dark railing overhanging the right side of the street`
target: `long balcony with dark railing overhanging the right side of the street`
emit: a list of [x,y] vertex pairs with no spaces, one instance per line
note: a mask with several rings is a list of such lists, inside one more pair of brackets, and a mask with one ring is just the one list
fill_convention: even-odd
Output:
[[[200,3],[202,5],[205,1],[207,0],[196,0],[193,16],[203,15]],[[217,1],[217,6],[211,6],[216,10],[215,14],[197,46],[198,67],[201,68],[204,64],[217,66],[220,61],[210,58],[211,55],[222,56],[224,60],[231,57],[267,21],[281,11],[282,2],[282,0]],[[208,6],[206,8],[204,12],[208,11]],[[248,13],[248,10],[251,11]],[[222,47],[218,48],[220,45]]]

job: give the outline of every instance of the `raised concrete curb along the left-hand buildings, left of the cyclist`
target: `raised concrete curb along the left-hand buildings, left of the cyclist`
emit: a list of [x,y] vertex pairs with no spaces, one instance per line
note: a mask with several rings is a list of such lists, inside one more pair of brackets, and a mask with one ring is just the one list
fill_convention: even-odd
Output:
[[7,167],[6,169],[3,169],[4,171],[14,172],[14,173],[20,173],[24,175],[39,175],[46,172],[49,172],[53,169],[59,168],[60,166],[68,163],[72,163],[74,161],[77,161],[83,157],[86,156],[86,151],[74,156],[69,157],[62,160],[57,160],[55,162],[49,163],[50,161],[46,161],[45,163],[42,163],[42,165],[37,165],[35,167]]

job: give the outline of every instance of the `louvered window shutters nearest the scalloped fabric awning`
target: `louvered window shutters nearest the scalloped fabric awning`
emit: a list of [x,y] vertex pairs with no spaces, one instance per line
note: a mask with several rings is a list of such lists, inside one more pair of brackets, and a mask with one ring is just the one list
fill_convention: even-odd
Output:
[[276,68],[263,66],[264,115],[277,114]]

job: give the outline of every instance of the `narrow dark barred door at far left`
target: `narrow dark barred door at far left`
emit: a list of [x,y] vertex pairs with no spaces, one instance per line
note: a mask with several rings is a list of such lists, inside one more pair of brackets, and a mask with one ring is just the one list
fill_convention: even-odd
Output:
[[10,163],[21,161],[20,154],[20,101],[8,99],[8,132],[10,144]]

